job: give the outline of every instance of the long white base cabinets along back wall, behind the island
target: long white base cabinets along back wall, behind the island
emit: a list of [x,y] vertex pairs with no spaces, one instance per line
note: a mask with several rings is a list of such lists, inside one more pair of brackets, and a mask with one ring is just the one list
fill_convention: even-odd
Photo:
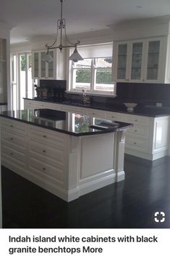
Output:
[[[43,102],[35,100],[25,100],[25,108],[29,108],[32,103],[32,108],[39,108],[40,105],[40,108],[45,108]],[[133,124],[134,126],[127,130],[125,153],[151,161],[168,155],[170,116],[154,118],[56,103],[46,103],[46,108],[84,113],[99,119],[124,121]]]

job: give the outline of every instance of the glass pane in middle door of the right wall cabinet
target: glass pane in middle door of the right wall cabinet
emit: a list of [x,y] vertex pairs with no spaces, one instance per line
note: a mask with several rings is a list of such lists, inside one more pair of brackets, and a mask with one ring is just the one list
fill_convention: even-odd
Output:
[[143,42],[137,42],[132,44],[131,79],[133,80],[141,79],[142,56],[143,56]]

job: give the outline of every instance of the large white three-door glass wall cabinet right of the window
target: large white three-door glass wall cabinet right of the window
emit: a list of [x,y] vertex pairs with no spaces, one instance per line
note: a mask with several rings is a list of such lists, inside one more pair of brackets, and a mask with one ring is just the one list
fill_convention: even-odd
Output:
[[169,83],[169,37],[114,42],[114,81]]

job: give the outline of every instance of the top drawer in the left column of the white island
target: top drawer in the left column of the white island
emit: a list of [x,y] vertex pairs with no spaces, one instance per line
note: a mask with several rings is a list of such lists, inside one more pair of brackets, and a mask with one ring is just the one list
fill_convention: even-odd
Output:
[[10,133],[16,132],[22,135],[27,134],[26,125],[20,121],[13,121],[12,119],[1,118],[1,128]]

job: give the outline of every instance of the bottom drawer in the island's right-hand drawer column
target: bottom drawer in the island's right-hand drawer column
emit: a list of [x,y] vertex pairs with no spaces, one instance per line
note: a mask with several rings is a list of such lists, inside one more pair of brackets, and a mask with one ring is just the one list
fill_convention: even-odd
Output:
[[49,164],[45,164],[42,161],[38,161],[33,157],[30,158],[30,169],[35,169],[38,172],[48,175],[49,177],[56,178],[60,183],[63,183],[63,173],[56,167],[52,167]]

